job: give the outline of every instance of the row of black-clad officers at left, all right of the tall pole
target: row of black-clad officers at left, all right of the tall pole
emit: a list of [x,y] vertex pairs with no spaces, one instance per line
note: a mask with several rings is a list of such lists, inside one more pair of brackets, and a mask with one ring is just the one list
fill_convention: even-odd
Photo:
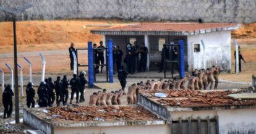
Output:
[[[53,83],[51,78],[45,80],[45,82],[41,82],[38,87],[38,105],[40,107],[51,107],[56,101],[57,106],[60,106],[62,103],[64,106],[67,104],[67,100],[69,98],[69,85],[71,86],[71,98],[70,104],[72,104],[72,100],[74,99],[74,94],[76,94],[76,103],[83,103],[85,101],[84,92],[85,92],[85,84],[87,84],[87,80],[85,79],[85,72],[81,72],[79,77],[76,74],[73,75],[73,78],[67,80],[67,76],[61,80],[61,77],[57,77],[57,80]],[[55,90],[55,92],[54,92]],[[35,103],[33,98],[35,96],[30,96],[29,91],[33,94],[32,86],[28,86],[27,93],[27,106],[34,107]],[[80,96],[79,96],[80,93]]]

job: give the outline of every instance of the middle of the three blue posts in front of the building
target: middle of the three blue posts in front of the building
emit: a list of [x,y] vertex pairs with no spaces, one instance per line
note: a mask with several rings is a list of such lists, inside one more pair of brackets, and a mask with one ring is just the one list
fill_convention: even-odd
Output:
[[113,75],[113,41],[108,40],[108,71],[109,71],[109,83],[114,83]]

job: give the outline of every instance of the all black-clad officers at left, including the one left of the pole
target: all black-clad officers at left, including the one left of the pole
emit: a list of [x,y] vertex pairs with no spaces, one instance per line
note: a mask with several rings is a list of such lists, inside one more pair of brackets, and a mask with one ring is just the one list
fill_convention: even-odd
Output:
[[[37,94],[38,100],[36,101],[39,107],[51,107],[56,101],[57,106],[60,106],[62,103],[63,106],[67,104],[69,98],[69,85],[71,86],[71,98],[70,104],[74,99],[74,94],[76,94],[76,103],[83,103],[85,101],[84,92],[85,85],[87,84],[85,79],[85,72],[81,72],[79,77],[76,74],[73,75],[73,78],[67,80],[67,76],[61,80],[61,77],[57,77],[55,82],[52,82],[52,78],[46,78],[45,82],[41,82],[38,87]],[[80,93],[80,96],[79,96]],[[27,107],[35,107],[35,90],[32,83],[28,83],[26,88],[27,96]],[[7,85],[2,94],[2,103],[4,104],[4,119],[6,117],[11,117],[12,114],[12,97],[14,96],[11,86]]]

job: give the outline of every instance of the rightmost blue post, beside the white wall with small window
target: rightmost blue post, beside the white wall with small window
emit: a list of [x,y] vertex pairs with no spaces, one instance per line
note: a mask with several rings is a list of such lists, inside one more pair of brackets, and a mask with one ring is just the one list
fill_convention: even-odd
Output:
[[184,41],[179,40],[179,77],[185,77],[185,57],[184,57]]

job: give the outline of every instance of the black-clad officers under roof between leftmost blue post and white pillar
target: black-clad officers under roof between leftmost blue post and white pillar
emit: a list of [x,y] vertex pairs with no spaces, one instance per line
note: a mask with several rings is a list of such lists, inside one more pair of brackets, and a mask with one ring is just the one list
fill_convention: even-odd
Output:
[[[104,51],[105,47],[103,42],[100,41],[100,46],[97,47],[97,44],[93,44],[94,51],[94,62],[95,73],[102,73],[104,67]],[[137,44],[137,41],[134,44],[128,43],[126,46],[126,57],[124,57],[124,63],[127,65],[127,70],[130,74],[135,72],[145,72],[147,67],[147,54],[148,48],[142,43],[140,46]],[[119,46],[113,46],[113,65],[116,67],[116,72],[119,72],[122,65],[122,56],[124,52],[120,49]],[[139,59],[140,57],[140,59]],[[101,70],[99,68],[101,66]]]

